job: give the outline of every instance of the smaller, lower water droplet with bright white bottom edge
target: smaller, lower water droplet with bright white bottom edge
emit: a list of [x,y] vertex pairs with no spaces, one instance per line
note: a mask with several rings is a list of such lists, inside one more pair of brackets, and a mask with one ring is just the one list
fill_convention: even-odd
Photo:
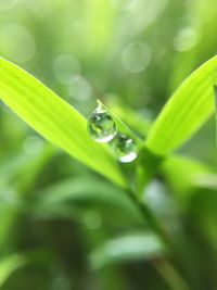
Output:
[[116,136],[112,142],[112,147],[118,160],[123,163],[131,162],[137,157],[136,142],[123,134]]

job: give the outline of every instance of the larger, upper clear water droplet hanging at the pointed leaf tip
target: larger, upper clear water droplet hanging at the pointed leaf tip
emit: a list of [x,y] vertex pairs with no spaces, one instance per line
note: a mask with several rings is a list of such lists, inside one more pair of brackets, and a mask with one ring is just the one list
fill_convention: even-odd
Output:
[[117,125],[107,111],[99,104],[88,118],[88,130],[97,142],[107,143],[117,134]]

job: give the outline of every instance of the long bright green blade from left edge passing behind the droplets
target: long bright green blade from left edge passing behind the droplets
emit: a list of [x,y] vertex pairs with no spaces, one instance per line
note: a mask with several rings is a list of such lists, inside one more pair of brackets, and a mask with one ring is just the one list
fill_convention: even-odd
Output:
[[106,146],[95,143],[88,135],[86,118],[35,77],[2,58],[0,98],[47,140],[125,187]]

